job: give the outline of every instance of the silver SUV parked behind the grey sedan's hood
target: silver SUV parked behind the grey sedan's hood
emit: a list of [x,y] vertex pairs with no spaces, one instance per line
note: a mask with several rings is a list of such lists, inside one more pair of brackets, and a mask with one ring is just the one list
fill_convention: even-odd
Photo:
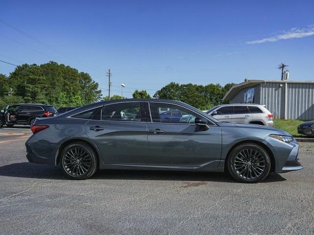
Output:
[[274,126],[273,115],[260,104],[222,104],[206,113],[219,121]]

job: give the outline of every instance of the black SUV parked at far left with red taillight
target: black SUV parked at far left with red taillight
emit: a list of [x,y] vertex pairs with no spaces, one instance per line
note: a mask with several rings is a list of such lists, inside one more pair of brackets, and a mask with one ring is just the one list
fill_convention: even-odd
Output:
[[57,115],[52,105],[47,104],[14,104],[6,107],[2,114],[2,125],[33,125],[35,118],[50,118]]

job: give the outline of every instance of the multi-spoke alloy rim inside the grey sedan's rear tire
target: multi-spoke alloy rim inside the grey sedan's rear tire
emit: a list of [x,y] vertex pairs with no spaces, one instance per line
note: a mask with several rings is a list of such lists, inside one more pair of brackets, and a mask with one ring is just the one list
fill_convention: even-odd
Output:
[[82,147],[69,148],[62,161],[65,171],[74,177],[87,174],[92,165],[90,154]]

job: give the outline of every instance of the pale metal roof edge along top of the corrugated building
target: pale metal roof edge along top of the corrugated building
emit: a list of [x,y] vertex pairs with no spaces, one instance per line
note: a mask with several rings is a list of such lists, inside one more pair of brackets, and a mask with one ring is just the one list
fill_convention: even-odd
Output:
[[254,85],[258,85],[261,83],[314,83],[314,81],[247,80],[232,86],[230,90],[227,92],[227,94],[225,94],[222,100],[230,100],[235,96],[235,94],[237,94],[243,88],[252,87]]

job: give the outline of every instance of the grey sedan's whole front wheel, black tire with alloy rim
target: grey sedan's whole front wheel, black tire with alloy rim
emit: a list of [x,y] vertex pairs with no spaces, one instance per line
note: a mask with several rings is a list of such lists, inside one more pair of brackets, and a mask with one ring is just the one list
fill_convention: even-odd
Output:
[[256,183],[267,177],[270,171],[270,157],[260,145],[244,143],[232,150],[227,165],[235,180],[242,183]]

